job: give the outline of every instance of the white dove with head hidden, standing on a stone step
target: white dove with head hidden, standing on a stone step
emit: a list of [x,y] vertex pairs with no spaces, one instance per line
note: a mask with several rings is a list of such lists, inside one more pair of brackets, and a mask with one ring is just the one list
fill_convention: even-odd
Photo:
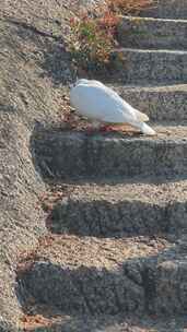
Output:
[[145,121],[149,117],[126,103],[115,91],[94,80],[78,80],[70,91],[70,103],[75,111],[92,121],[93,128],[129,123],[142,133],[154,135]]

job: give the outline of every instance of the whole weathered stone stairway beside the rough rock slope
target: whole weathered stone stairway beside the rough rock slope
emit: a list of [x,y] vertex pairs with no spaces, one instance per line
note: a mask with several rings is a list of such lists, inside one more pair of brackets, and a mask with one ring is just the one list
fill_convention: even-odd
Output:
[[[166,17],[166,2],[150,15]],[[119,26],[127,68],[114,88],[150,116],[156,137],[50,127],[33,133],[36,168],[63,197],[46,221],[49,235],[17,274],[24,310],[32,297],[30,312],[50,320],[32,331],[184,331],[185,4],[167,3],[173,20],[124,17]]]

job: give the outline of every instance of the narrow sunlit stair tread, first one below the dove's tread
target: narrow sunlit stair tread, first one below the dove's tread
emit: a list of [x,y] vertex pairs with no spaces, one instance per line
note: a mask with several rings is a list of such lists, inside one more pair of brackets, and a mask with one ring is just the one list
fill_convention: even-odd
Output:
[[[120,182],[119,182],[120,181]],[[98,180],[98,183],[87,183],[79,181],[77,185],[67,185],[68,193],[58,201],[107,201],[113,204],[121,201],[141,201],[152,205],[164,205],[168,202],[187,202],[187,180],[180,178],[165,181],[164,177],[155,179],[153,182],[149,176],[147,178],[124,179],[117,181]],[[101,183],[100,183],[101,182]],[[56,183],[52,191],[63,192],[65,185]]]

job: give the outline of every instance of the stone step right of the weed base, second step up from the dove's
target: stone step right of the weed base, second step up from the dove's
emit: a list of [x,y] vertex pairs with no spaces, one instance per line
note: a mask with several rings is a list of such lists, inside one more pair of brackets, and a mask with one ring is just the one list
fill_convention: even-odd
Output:
[[137,85],[187,83],[187,51],[118,48],[113,52],[109,78]]

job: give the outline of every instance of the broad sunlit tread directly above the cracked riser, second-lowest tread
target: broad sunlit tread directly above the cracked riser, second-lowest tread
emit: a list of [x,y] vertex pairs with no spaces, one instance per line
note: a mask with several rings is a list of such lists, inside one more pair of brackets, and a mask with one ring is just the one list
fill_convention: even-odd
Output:
[[34,261],[46,264],[50,261],[70,270],[95,266],[110,271],[120,268],[125,260],[153,257],[171,247],[172,242],[159,237],[113,239],[49,235],[37,248]]

